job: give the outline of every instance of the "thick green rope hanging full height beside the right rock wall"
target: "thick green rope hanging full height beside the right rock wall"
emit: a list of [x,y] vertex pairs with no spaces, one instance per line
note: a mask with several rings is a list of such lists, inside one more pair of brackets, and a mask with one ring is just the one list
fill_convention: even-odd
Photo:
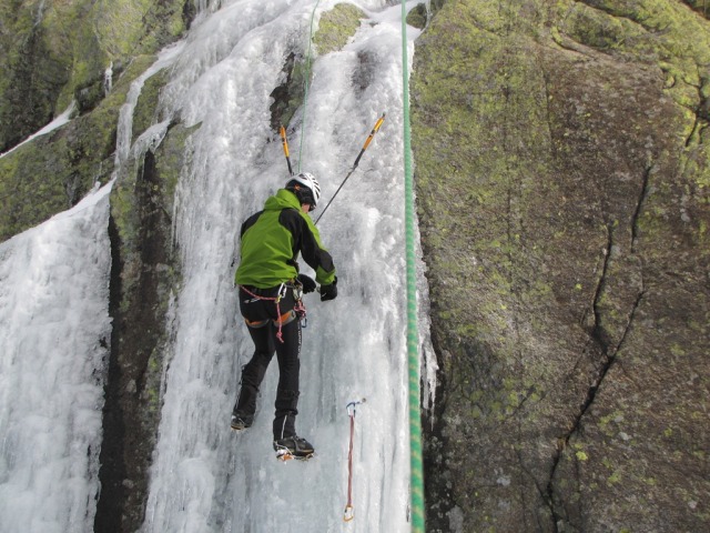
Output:
[[414,180],[409,125],[409,68],[407,10],[402,0],[402,72],[404,119],[404,195],[407,262],[407,360],[409,368],[409,466],[412,531],[424,533],[424,469],[422,465],[422,419],[419,415],[419,332],[417,321],[417,276],[415,254]]

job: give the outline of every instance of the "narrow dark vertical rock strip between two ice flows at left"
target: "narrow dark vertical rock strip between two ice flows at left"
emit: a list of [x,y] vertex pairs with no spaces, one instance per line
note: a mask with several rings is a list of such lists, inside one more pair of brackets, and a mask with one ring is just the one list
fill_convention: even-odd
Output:
[[[191,135],[200,128],[170,124],[162,142],[131,153],[111,191],[112,360],[118,369],[106,405],[120,420],[104,428],[104,447],[123,469],[102,471],[102,501],[125,512],[98,513],[99,521],[138,531],[148,496],[150,457],[158,439],[171,298],[180,291],[180,258],[172,239],[175,188],[190,168]],[[125,491],[125,480],[131,490]],[[110,503],[106,503],[110,502]]]

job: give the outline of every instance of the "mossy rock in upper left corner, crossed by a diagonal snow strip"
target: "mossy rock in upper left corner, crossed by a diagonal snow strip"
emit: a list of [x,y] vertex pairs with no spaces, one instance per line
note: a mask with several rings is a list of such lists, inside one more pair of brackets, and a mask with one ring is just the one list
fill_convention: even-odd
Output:
[[192,0],[0,0],[0,152],[72,104],[75,118],[0,159],[0,240],[111,175],[130,83],[194,14]]

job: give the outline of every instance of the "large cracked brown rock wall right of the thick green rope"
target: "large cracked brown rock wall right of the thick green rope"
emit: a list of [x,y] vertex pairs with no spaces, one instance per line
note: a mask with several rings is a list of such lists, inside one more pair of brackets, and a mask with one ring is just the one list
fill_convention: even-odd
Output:
[[710,523],[710,26],[447,2],[412,79],[428,531]]

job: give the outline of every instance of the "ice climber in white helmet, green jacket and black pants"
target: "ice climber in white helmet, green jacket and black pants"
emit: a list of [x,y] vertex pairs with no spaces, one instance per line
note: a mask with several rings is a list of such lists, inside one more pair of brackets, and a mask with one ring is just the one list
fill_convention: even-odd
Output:
[[[284,189],[268,198],[264,209],[241,229],[241,261],[235,281],[240,311],[254,341],[254,355],[242,368],[241,389],[232,412],[233,430],[252,425],[256,395],[274,353],[278,361],[273,423],[274,450],[296,456],[313,453],[313,445],[297,436],[301,366],[301,294],[321,284],[321,301],[337,296],[333,258],[321,243],[308,212],[321,199],[321,187],[308,172],[291,177]],[[315,281],[298,273],[301,254],[315,271]]]

